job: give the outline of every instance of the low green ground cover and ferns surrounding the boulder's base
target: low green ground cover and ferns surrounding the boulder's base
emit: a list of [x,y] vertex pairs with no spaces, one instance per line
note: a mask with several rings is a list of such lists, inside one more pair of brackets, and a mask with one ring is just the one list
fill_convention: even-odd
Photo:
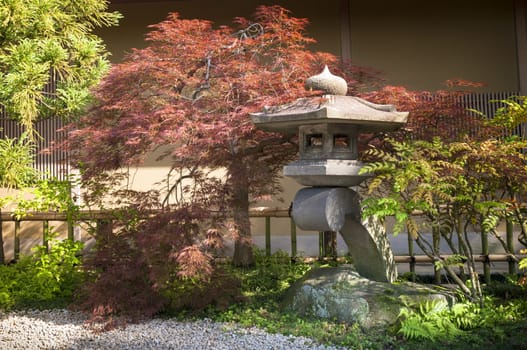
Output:
[[272,333],[306,336],[350,349],[504,349],[522,348],[527,339],[527,289],[518,278],[485,286],[485,307],[468,299],[452,308],[409,304],[390,327],[365,330],[356,324],[306,318],[281,308],[287,288],[307,271],[337,262],[291,262],[286,254],[266,257],[256,251],[256,266],[234,269],[244,299],[227,309],[210,308],[200,316],[260,327]]

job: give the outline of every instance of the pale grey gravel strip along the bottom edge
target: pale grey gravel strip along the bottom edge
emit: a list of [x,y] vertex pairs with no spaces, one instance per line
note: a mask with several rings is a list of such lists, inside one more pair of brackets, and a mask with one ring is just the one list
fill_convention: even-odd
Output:
[[309,338],[269,334],[210,320],[180,322],[154,319],[95,333],[86,317],[67,310],[0,314],[0,349],[337,349]]

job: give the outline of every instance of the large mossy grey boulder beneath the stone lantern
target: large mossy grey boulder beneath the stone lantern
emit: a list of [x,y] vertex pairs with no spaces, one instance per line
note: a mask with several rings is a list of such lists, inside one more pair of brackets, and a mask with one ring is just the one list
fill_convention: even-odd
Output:
[[396,322],[408,303],[437,300],[448,307],[454,298],[445,292],[410,282],[375,282],[361,277],[352,265],[318,268],[294,284],[283,306],[299,314],[364,328]]

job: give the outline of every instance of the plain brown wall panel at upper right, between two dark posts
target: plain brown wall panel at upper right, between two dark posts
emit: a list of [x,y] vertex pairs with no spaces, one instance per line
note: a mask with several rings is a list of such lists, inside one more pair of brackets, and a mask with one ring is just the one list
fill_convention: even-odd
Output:
[[352,59],[388,83],[437,89],[447,79],[517,91],[513,2],[351,0]]

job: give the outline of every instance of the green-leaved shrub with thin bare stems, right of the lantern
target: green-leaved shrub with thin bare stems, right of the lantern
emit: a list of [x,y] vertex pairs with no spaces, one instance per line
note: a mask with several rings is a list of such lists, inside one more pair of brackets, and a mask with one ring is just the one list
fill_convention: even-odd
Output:
[[[525,232],[517,200],[527,193],[526,158],[521,152],[525,146],[519,140],[496,139],[386,140],[384,149],[365,152],[372,162],[361,172],[375,177],[368,184],[363,215],[381,220],[393,216],[395,234],[406,229],[436,268],[444,269],[468,297],[482,301],[467,235],[471,231],[492,235],[508,251],[498,225],[512,218]],[[441,256],[430,241],[434,235],[448,244],[451,258]],[[469,285],[459,278],[458,267],[467,269]]]

